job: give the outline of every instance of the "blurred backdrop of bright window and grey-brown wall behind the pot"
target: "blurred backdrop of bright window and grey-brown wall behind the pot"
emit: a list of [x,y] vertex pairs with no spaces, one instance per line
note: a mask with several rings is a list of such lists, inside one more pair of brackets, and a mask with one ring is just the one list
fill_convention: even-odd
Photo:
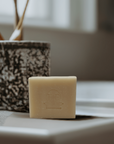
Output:
[[[18,0],[21,17],[26,0]],[[0,0],[0,33],[14,31],[13,0]],[[51,75],[114,80],[114,0],[30,0],[23,39],[51,43]]]

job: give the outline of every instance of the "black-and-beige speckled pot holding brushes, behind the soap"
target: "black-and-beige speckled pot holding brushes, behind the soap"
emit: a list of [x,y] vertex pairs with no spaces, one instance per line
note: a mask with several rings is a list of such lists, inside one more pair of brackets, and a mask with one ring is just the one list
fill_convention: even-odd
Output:
[[0,42],[0,109],[29,112],[28,78],[49,76],[50,44]]

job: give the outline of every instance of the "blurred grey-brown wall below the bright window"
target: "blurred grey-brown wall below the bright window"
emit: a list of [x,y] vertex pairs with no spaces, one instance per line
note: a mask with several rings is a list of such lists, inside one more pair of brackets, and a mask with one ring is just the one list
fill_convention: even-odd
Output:
[[[0,25],[8,39],[12,26]],[[51,75],[76,75],[78,80],[114,80],[114,34],[73,33],[24,28],[24,40],[51,43]]]

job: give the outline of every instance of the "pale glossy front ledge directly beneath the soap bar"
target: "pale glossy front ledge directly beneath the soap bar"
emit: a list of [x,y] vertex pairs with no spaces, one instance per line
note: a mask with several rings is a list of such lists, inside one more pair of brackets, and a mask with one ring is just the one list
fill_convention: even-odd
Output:
[[0,127],[0,140],[4,144],[111,144],[113,135],[114,118],[30,119],[27,113],[13,112]]

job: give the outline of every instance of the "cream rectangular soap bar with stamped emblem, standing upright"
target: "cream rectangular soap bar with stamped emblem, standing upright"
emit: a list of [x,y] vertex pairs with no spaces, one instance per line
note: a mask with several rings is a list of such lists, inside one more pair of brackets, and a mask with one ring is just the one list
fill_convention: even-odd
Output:
[[75,118],[75,76],[30,77],[30,118]]

